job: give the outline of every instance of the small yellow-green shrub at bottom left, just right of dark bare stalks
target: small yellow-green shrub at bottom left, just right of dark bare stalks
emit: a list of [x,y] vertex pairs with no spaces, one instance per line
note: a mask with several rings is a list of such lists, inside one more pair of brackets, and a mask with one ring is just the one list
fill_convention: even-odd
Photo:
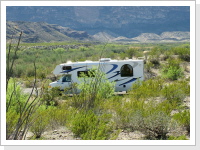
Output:
[[41,106],[33,115],[33,122],[30,131],[34,134],[35,138],[40,138],[47,130],[49,125],[48,111],[44,106]]

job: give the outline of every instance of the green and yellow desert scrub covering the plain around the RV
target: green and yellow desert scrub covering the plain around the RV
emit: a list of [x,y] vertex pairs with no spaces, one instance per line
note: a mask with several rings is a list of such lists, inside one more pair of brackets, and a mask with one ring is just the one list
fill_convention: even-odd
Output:
[[[94,80],[83,76],[79,95],[68,96],[48,84],[53,69],[67,61],[112,59],[145,60],[145,81],[124,95],[94,69]],[[116,140],[140,132],[141,139],[190,138],[190,44],[38,43],[8,44],[7,139],[45,140],[47,131],[65,127],[82,140]],[[143,58],[144,59],[144,58]],[[13,69],[15,68],[15,69]],[[31,93],[24,89],[31,88]],[[27,133],[32,136],[26,137]],[[51,139],[51,138],[50,138]]]

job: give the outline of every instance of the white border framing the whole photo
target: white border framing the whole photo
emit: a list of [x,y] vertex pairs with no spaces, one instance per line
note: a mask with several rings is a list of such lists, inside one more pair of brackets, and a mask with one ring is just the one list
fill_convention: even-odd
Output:
[[[6,140],[6,6],[190,6],[190,140]],[[195,145],[195,91],[195,1],[1,1],[1,145]]]

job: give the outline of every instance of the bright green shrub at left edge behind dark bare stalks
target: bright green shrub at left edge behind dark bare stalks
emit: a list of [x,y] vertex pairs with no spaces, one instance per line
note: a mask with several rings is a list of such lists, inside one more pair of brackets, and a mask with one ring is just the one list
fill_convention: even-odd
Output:
[[6,139],[23,139],[39,101],[22,92],[16,79],[11,78],[6,92]]

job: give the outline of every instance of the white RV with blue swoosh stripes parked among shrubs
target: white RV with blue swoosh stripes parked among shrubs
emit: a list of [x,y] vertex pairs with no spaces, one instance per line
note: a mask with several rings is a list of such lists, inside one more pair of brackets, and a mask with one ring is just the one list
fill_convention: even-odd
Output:
[[[68,62],[57,65],[53,73],[62,75],[55,82],[50,83],[50,87],[59,87],[60,90],[69,88],[72,83],[80,83],[78,79],[81,74],[88,75],[88,71],[94,66],[100,67],[109,81],[115,82],[115,91],[128,91],[136,80],[144,80],[143,60],[111,60],[102,58],[99,61]],[[91,77],[92,78],[92,77]],[[79,91],[80,92],[80,91]]]

